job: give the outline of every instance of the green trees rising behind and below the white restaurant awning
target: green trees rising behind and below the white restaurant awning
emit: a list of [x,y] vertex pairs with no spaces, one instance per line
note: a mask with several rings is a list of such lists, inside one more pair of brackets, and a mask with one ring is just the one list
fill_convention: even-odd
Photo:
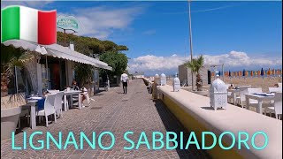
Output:
[[[123,51],[128,50],[125,45],[118,45],[111,41],[102,41],[92,37],[77,36],[74,34],[64,34],[57,32],[57,43],[63,46],[69,46],[73,42],[74,49],[89,57],[99,57],[112,67],[112,72],[100,69],[100,75],[108,75],[110,79],[114,76],[119,76],[126,70],[128,58]],[[93,67],[89,64],[75,65],[76,79],[82,83],[88,83],[93,78]]]

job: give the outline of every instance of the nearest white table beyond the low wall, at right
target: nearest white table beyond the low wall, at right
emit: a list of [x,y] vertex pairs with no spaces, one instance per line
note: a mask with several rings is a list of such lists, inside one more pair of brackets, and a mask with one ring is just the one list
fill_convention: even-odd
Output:
[[263,101],[274,101],[274,94],[246,94],[246,102],[247,102],[247,110],[249,110],[249,99],[254,99],[258,101],[258,106],[256,108],[256,112],[263,114]]

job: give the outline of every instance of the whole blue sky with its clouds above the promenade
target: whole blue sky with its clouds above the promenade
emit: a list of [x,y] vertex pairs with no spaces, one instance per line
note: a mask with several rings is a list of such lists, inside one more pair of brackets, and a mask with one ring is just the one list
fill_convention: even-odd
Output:
[[[126,45],[129,70],[177,72],[189,55],[187,2],[3,2],[73,15],[79,35]],[[194,56],[229,70],[281,68],[281,2],[193,2]],[[186,56],[186,57],[185,57]],[[259,68],[260,67],[260,68]]]

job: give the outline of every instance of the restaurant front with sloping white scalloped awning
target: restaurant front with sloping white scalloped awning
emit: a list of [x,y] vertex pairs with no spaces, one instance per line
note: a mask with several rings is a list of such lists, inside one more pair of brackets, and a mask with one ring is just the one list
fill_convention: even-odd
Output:
[[[12,45],[15,48],[23,48],[36,52],[36,58],[27,64],[27,71],[30,75],[30,83],[34,91],[42,94],[42,90],[59,89],[63,90],[71,86],[74,79],[74,63],[90,64],[96,68],[112,70],[111,66],[96,58],[88,57],[77,51],[73,47],[63,47],[58,44],[39,45],[24,40],[10,40],[3,42],[5,46]],[[7,52],[6,52],[7,53]],[[95,73],[95,81],[89,87],[98,87],[98,70]],[[27,81],[27,79],[23,79]],[[18,85],[17,85],[18,87]]]

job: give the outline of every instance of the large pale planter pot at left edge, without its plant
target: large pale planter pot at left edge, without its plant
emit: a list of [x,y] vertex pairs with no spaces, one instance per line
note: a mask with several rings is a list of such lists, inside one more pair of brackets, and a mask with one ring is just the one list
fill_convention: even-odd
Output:
[[11,138],[16,131],[21,107],[1,109],[1,140]]

